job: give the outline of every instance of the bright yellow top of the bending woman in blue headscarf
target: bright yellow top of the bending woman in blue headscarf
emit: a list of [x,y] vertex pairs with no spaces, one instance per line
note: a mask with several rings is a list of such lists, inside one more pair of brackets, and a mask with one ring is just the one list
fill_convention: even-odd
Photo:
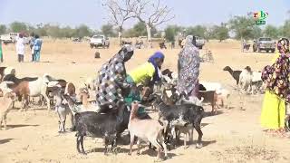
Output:
[[136,83],[144,84],[146,79],[151,79],[154,75],[155,68],[152,63],[146,62],[136,69],[132,70],[128,74],[131,76],[132,80]]

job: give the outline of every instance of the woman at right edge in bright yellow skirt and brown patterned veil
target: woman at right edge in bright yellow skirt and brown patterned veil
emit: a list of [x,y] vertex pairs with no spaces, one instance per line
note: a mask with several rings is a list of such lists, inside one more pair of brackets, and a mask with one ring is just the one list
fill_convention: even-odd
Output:
[[285,114],[290,102],[290,52],[289,40],[283,38],[277,43],[277,50],[272,65],[267,65],[262,72],[262,81],[266,83],[261,127],[275,134],[285,133]]

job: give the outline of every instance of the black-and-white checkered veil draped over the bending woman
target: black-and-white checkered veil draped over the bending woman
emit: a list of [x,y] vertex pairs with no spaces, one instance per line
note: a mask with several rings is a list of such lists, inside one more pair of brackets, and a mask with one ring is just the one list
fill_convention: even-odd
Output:
[[115,108],[118,101],[123,101],[123,91],[130,86],[126,82],[124,63],[131,59],[133,53],[131,45],[126,45],[102,65],[98,72],[96,92],[96,101],[99,106],[108,105],[110,108]]

